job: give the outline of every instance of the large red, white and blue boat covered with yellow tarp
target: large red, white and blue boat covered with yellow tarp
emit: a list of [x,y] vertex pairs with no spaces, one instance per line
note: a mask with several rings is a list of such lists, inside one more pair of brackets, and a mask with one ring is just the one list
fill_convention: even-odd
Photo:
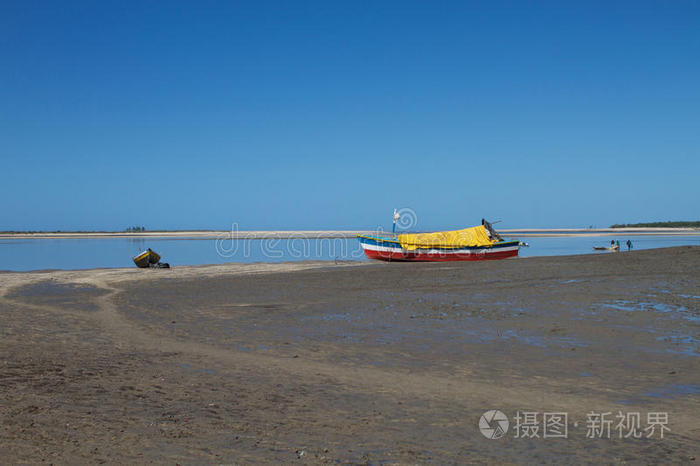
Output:
[[385,261],[473,261],[515,257],[520,241],[504,241],[491,225],[435,233],[357,235],[369,259]]

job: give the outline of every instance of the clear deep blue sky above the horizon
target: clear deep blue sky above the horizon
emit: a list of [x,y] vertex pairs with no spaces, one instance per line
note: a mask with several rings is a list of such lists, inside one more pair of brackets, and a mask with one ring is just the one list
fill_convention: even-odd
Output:
[[0,230],[700,219],[700,2],[0,1]]

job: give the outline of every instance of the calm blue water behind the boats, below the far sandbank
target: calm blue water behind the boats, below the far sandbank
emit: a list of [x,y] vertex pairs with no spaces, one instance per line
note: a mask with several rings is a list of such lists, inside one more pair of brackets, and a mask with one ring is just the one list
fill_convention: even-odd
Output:
[[[522,238],[530,247],[521,257],[567,254],[611,254],[594,252],[619,240],[622,249],[631,239],[633,249],[700,245],[700,236],[597,236]],[[297,260],[366,260],[355,238],[290,240],[214,239],[9,239],[0,240],[0,270],[87,269],[134,267],[131,257],[147,247],[157,251],[170,265],[221,264],[225,262],[282,262]]]

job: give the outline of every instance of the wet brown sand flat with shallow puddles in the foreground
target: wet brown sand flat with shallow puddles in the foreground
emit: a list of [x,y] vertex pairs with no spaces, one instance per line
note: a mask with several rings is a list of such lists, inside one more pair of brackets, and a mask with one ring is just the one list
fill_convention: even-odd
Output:
[[[687,463],[700,247],[0,274],[11,463]],[[503,411],[500,439],[480,416]],[[566,412],[568,438],[514,438]],[[586,414],[667,412],[664,438]]]

